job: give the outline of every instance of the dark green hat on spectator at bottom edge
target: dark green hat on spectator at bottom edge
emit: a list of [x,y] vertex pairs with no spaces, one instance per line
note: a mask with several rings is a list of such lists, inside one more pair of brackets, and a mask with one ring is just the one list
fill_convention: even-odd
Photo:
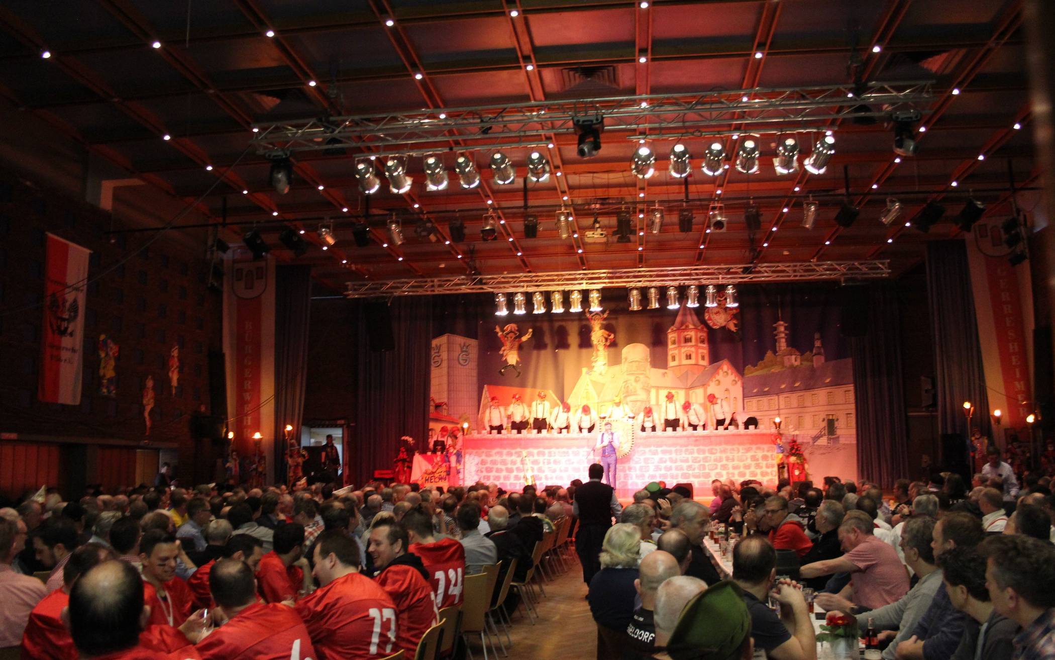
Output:
[[723,580],[689,601],[667,642],[674,660],[729,660],[751,634],[740,587]]

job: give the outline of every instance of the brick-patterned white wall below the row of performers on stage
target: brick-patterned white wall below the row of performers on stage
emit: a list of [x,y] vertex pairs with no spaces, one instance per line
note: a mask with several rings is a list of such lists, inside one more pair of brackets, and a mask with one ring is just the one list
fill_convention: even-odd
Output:
[[[506,490],[523,488],[522,452],[541,486],[587,480],[594,461],[595,434],[471,435],[465,438],[465,480],[495,482]],[[629,497],[649,482],[673,486],[691,482],[696,492],[710,492],[713,478],[776,479],[772,434],[761,431],[637,434],[631,454],[620,458],[617,494]]]

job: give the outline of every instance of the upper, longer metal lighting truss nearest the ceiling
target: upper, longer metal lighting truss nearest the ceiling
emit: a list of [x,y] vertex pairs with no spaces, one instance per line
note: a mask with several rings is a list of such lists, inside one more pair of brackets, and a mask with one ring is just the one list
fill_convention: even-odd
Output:
[[[251,145],[260,153],[316,151],[347,147],[353,151],[418,154],[437,145],[460,140],[461,149],[546,144],[553,133],[575,133],[575,119],[584,114],[605,117],[606,133],[648,133],[650,138],[698,137],[721,134],[732,116],[748,127],[742,132],[787,133],[817,129],[832,119],[857,116],[865,103],[886,117],[896,110],[920,110],[934,100],[932,81],[868,82],[802,88],[759,88],[710,91],[684,95],[652,94],[591,99],[537,101],[507,106],[474,106],[387,115],[352,115],[258,124]],[[852,94],[853,103],[847,103]],[[334,127],[337,127],[334,129]],[[772,127],[772,128],[767,128]],[[337,140],[334,143],[334,140]],[[517,140],[516,143],[512,140]]]

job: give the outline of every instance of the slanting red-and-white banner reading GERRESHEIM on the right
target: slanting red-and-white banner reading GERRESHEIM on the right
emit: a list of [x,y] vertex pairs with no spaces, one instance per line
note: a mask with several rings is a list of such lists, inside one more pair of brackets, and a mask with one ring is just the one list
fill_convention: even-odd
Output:
[[1003,219],[978,222],[967,239],[971,288],[978,317],[990,410],[1000,410],[1004,429],[1025,426],[1033,412],[1030,354],[1033,300],[1030,268],[1008,263],[1011,250],[1003,244]]

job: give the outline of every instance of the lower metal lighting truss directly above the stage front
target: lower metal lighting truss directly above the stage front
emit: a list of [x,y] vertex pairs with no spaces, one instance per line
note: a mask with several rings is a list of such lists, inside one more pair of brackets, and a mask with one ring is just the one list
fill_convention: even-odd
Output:
[[689,266],[683,268],[622,268],[569,270],[495,276],[453,276],[370,282],[347,282],[346,298],[372,296],[431,296],[436,294],[495,294],[516,290],[562,291],[581,288],[689,286],[752,282],[871,280],[890,276],[889,261],[819,261]]

